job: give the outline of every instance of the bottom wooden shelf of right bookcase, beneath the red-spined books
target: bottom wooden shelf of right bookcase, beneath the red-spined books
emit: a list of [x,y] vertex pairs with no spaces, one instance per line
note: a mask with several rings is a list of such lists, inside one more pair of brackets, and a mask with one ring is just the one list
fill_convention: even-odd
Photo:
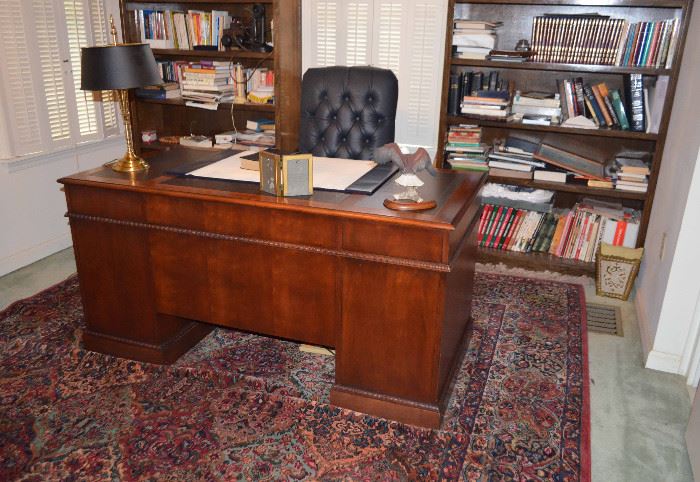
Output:
[[527,269],[556,271],[573,275],[592,276],[595,274],[595,263],[559,258],[546,253],[519,253],[500,249],[478,248],[477,259],[481,263],[516,264]]

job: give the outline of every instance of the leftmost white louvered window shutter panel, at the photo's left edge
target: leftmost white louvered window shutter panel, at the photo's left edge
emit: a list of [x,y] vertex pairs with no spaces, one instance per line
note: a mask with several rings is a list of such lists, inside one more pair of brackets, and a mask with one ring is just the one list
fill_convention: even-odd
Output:
[[[32,82],[32,68],[27,38],[33,32],[31,17],[21,0],[5,0],[0,8],[0,79],[4,88],[5,124],[12,126],[11,155],[39,152],[40,113],[37,88]],[[25,5],[26,6],[26,5]]]

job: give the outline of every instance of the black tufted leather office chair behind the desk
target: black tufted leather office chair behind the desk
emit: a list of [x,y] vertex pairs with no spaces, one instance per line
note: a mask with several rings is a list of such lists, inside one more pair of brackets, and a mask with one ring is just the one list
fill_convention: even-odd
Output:
[[309,69],[301,84],[299,150],[321,157],[372,159],[394,142],[399,85],[376,67]]

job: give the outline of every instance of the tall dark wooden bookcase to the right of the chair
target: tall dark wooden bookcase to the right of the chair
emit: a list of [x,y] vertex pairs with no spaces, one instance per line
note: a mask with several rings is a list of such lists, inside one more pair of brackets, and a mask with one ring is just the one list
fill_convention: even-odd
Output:
[[[530,40],[533,18],[545,13],[591,13],[597,12],[616,18],[625,18],[629,22],[654,21],[677,17],[680,19],[678,47],[670,69],[617,67],[604,65],[579,65],[557,63],[506,63],[489,60],[457,59],[452,56],[452,33],[454,26],[455,5],[468,9],[471,20],[501,21],[498,29],[498,48],[512,49],[519,39]],[[582,197],[596,197],[607,200],[620,200],[623,205],[641,211],[641,225],[637,245],[642,246],[646,237],[649,216],[654,202],[659,169],[668,122],[671,118],[671,106],[676,90],[678,73],[683,55],[685,37],[690,20],[692,0],[450,0],[447,14],[447,35],[445,40],[445,67],[442,86],[442,104],[440,111],[440,130],[436,164],[443,166],[447,131],[454,124],[477,124],[482,127],[483,142],[507,137],[509,133],[524,132],[539,140],[555,140],[558,144],[571,141],[577,144],[594,145],[600,152],[613,158],[623,149],[644,150],[652,153],[649,188],[646,193],[617,191],[614,189],[590,188],[578,184],[560,184],[535,180],[517,180],[491,177],[493,182],[523,185],[556,192],[555,205],[571,207]],[[632,132],[612,129],[574,129],[560,126],[537,126],[520,123],[508,123],[492,120],[480,120],[466,115],[448,115],[450,73],[465,70],[498,70],[506,79],[513,80],[515,87],[522,91],[557,92],[557,79],[582,77],[584,82],[604,81],[614,88],[622,89],[624,74],[641,73],[645,76],[669,77],[661,125],[657,134]],[[624,90],[624,89],[622,89]],[[591,274],[595,271],[594,263],[583,263],[541,253],[514,253],[480,248],[479,258],[485,262],[503,262],[512,266],[529,269],[551,270],[575,274]]]

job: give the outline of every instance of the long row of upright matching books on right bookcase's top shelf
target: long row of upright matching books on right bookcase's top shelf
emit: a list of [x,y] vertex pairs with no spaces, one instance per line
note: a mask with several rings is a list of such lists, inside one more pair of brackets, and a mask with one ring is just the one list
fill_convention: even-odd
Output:
[[670,68],[679,22],[630,24],[606,15],[545,14],[533,19],[535,62]]

